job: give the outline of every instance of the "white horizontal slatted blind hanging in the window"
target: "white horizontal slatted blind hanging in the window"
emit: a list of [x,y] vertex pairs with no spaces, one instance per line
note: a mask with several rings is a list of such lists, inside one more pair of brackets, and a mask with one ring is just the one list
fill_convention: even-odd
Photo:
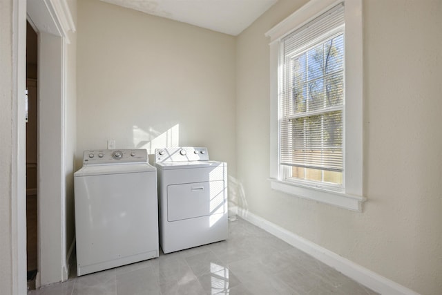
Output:
[[344,6],[282,39],[280,164],[343,171]]

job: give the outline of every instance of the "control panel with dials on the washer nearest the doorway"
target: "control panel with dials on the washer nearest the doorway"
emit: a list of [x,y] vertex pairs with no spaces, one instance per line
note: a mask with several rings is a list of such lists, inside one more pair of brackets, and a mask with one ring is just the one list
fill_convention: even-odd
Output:
[[147,162],[146,149],[96,149],[83,153],[84,165],[144,163]]

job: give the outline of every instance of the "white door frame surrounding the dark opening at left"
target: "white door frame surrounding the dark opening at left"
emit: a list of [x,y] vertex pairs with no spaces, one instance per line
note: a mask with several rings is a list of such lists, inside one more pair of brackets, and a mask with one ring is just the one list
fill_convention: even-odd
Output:
[[[67,280],[66,265],[66,184],[64,165],[66,101],[67,32],[75,32],[66,0],[13,0],[13,44],[17,54],[17,81],[14,91],[17,112],[13,114],[17,130],[17,169],[12,170],[12,188],[17,204],[12,204],[12,238],[15,254],[13,294],[26,294],[26,125],[24,99],[19,99],[26,85],[26,15],[39,35],[39,241],[36,285]],[[22,118],[22,119],[21,119]],[[16,193],[12,191],[12,200]]]

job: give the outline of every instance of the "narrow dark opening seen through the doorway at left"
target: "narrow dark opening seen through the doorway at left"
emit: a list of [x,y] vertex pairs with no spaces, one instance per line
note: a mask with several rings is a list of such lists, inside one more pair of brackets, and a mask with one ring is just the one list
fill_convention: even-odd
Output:
[[38,255],[37,32],[26,23],[26,258],[28,289],[35,289]]

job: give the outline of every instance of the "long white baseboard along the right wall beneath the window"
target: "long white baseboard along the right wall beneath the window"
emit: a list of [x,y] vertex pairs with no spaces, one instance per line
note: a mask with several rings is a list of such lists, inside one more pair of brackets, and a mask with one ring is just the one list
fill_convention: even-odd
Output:
[[419,293],[416,293],[403,285],[399,285],[398,283],[376,274],[361,265],[357,265],[351,260],[320,247],[314,242],[310,242],[309,240],[306,240],[291,231],[287,231],[287,229],[283,229],[282,227],[279,227],[278,225],[275,225],[245,209],[232,207],[229,208],[229,211],[232,213],[236,212],[240,218],[268,231],[270,234],[273,234],[273,236],[284,240],[290,245],[304,251],[326,265],[329,265],[329,267],[333,267],[338,270],[338,272],[345,274],[345,276],[356,280],[356,282],[361,283],[375,292],[385,295],[419,295]]

